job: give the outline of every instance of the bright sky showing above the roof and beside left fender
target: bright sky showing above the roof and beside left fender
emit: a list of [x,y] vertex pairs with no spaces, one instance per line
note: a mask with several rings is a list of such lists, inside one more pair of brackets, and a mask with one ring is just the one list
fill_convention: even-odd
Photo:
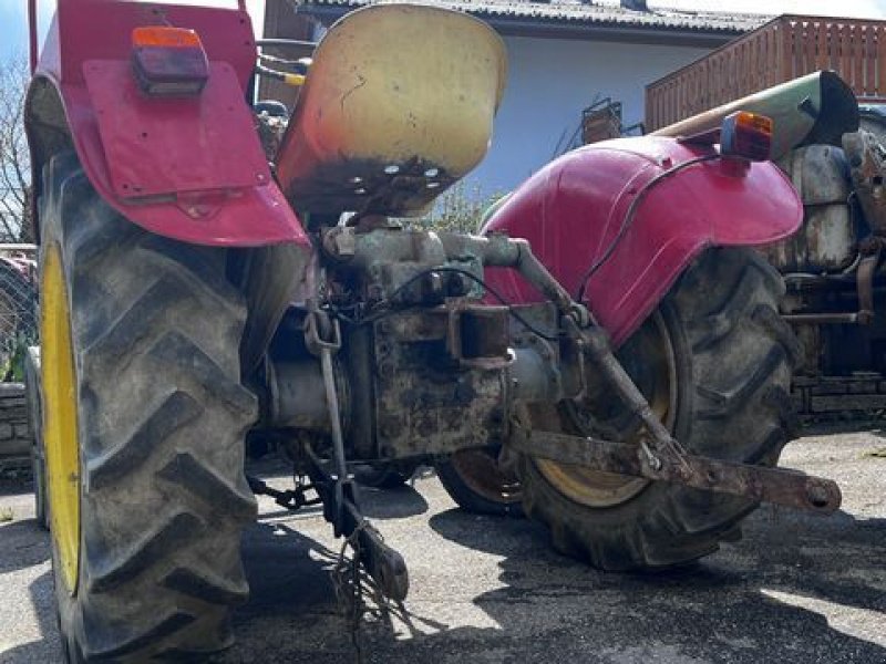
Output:
[[[199,4],[199,0],[185,0]],[[606,0],[607,3],[614,0]],[[204,4],[235,6],[236,0],[204,0]],[[261,24],[264,0],[247,0],[255,24]],[[752,13],[813,13],[846,17],[886,19],[886,0],[842,0],[838,9],[834,0],[649,0],[650,8],[672,7],[708,11],[736,11]],[[0,0],[0,58],[10,53],[28,51],[28,2],[27,0]],[[45,31],[54,7],[54,0],[38,0],[41,33]]]

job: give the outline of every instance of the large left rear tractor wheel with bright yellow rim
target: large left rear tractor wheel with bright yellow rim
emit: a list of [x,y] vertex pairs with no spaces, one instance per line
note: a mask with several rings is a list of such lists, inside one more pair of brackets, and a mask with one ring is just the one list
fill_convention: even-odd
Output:
[[53,157],[41,199],[43,439],[70,662],[230,645],[256,513],[240,385],[246,309],[225,251],[145,232]]

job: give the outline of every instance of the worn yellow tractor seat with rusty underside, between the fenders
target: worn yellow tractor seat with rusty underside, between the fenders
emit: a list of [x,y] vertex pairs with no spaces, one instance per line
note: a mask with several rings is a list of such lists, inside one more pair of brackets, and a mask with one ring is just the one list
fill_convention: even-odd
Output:
[[486,154],[502,101],[502,39],[465,13],[377,4],[317,48],[277,155],[300,211],[410,216]]

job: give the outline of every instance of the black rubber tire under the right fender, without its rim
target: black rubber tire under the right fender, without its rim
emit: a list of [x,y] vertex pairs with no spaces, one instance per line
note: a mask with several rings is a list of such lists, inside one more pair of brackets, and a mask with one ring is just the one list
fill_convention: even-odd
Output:
[[[756,252],[711,249],[662,303],[670,333],[686,349],[674,435],[688,449],[774,465],[793,437],[787,388],[801,352],[776,313],[782,292],[777,273]],[[567,429],[563,417],[543,414],[539,428]],[[625,504],[593,509],[557,491],[530,458],[521,467],[524,508],[548,526],[555,548],[605,570],[696,561],[739,536],[740,521],[758,505],[652,483]]]

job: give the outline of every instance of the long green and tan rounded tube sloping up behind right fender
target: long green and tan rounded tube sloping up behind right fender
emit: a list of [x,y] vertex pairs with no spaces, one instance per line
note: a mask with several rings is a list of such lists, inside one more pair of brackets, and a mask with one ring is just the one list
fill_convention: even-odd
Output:
[[852,89],[836,73],[821,71],[681,120],[651,135],[691,141],[718,131],[723,118],[736,111],[772,118],[773,160],[801,145],[838,146],[843,134],[858,129],[858,103]]

